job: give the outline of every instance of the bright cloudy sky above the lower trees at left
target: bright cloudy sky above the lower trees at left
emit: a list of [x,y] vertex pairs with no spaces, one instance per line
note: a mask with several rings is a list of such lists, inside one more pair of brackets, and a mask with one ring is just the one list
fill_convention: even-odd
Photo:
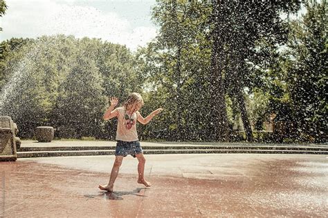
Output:
[[151,8],[156,0],[6,0],[0,41],[66,34],[145,46],[156,36]]

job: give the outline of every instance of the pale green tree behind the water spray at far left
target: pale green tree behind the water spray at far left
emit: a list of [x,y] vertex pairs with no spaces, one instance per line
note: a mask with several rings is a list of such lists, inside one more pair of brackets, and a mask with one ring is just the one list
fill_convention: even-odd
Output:
[[[31,48],[33,46],[30,44]],[[36,48],[35,48],[36,49]],[[45,114],[44,103],[45,90],[42,86],[43,78],[34,69],[37,63],[33,61],[37,52],[28,46],[10,59],[5,70],[12,71],[10,80],[1,92],[0,113],[9,115],[19,126],[19,134],[24,137],[33,136],[33,129],[42,123],[42,115]]]

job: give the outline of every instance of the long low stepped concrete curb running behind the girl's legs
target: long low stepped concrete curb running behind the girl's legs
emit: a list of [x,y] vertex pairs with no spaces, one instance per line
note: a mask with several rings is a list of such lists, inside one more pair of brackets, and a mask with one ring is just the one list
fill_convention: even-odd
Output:
[[[328,148],[310,148],[304,146],[143,146],[143,150],[145,155],[232,153],[328,155]],[[22,147],[17,152],[19,158],[114,154],[115,146]]]

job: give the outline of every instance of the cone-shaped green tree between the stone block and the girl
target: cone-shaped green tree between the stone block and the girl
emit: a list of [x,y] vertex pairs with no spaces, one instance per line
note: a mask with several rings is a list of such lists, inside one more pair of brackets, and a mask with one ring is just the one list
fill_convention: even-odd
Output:
[[98,136],[107,98],[103,79],[92,59],[80,54],[62,83],[62,95],[57,99],[58,126],[63,137]]

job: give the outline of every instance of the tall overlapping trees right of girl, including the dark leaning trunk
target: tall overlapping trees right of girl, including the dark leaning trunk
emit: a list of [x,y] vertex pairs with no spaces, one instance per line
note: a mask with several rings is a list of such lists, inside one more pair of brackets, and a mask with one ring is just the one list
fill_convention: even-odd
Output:
[[[262,50],[258,41],[275,44],[286,39],[280,14],[293,12],[298,6],[293,1],[159,1],[153,13],[160,26],[159,36],[149,44],[148,55],[153,58],[148,57],[147,61],[152,66],[150,72],[159,81],[153,79],[152,83],[168,92],[167,105],[174,116],[170,117],[174,121],[171,130],[177,130],[180,135],[184,130],[188,135],[196,130],[206,136],[199,137],[202,139],[228,140],[228,94],[239,106],[251,140],[244,99],[244,89],[251,90],[254,86],[248,62],[255,65],[265,62],[264,57],[257,57]],[[193,119],[200,125],[190,122]]]

